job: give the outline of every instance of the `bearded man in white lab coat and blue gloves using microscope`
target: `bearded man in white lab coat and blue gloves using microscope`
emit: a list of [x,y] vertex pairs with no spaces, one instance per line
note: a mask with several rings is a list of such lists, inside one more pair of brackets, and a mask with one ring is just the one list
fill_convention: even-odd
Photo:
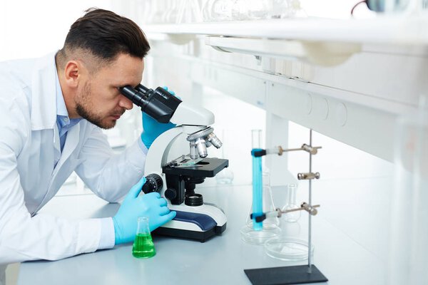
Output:
[[[132,108],[118,88],[141,82],[149,49],[133,21],[90,9],[58,53],[0,63],[0,266],[108,249],[133,241],[137,217],[151,230],[175,217],[158,193],[138,197],[148,147],[170,124],[145,118],[121,155],[100,129]],[[113,218],[37,214],[73,171],[109,202],[128,192]]]

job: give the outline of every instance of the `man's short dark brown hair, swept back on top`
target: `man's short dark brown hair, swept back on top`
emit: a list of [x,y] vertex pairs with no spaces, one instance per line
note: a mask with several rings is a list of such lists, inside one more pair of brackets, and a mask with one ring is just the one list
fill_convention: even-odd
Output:
[[138,58],[147,55],[150,45],[135,22],[103,9],[91,8],[85,12],[68,31],[61,49],[64,56],[76,49],[91,51],[105,61],[112,61],[119,53]]

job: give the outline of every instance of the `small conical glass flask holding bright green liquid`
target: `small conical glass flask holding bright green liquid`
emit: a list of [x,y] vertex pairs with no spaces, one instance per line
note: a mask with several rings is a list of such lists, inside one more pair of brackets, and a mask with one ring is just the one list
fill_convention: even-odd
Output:
[[137,222],[137,234],[132,247],[132,255],[136,258],[153,257],[156,250],[148,227],[148,217],[138,217]]

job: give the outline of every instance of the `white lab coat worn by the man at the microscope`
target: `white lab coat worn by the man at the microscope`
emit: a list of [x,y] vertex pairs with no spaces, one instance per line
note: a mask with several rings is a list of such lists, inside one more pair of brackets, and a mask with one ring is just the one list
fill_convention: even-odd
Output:
[[55,73],[54,54],[0,63],[0,265],[98,249],[100,219],[37,214],[71,172],[109,202],[143,175],[137,142],[113,155],[106,135],[86,120],[68,131],[61,154]]

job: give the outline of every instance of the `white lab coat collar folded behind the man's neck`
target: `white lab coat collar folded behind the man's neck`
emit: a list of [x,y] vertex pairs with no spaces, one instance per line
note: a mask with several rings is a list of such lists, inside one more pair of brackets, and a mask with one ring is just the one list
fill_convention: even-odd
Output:
[[38,58],[31,75],[31,130],[53,129],[56,125],[55,54]]

